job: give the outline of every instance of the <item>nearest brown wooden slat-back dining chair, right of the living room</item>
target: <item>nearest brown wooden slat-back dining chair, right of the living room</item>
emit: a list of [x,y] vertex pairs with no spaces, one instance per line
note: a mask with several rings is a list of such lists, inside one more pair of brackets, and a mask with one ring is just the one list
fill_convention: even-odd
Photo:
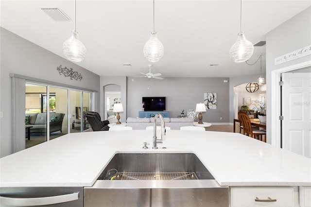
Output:
[[239,118],[242,121],[242,125],[243,125],[243,134],[252,137],[252,138],[256,138],[257,136],[259,137],[259,140],[262,141],[262,136],[265,135],[266,136],[266,132],[259,130],[257,128],[253,128],[251,121],[249,120],[247,114],[245,112],[239,112],[238,113]]

